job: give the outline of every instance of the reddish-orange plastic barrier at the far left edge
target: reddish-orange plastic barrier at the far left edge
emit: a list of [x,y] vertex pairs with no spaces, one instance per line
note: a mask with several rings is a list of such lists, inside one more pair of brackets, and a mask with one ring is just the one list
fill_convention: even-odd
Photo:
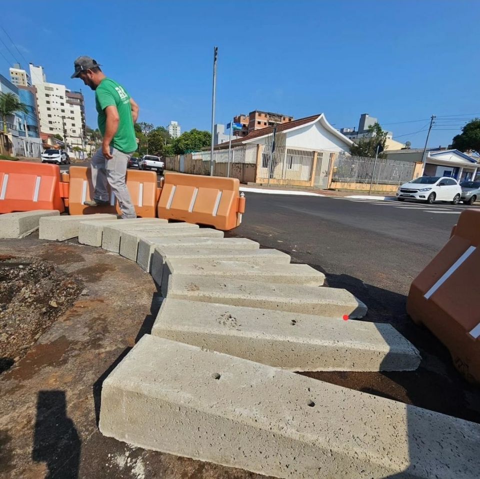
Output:
[[65,210],[58,165],[0,160],[0,213]]

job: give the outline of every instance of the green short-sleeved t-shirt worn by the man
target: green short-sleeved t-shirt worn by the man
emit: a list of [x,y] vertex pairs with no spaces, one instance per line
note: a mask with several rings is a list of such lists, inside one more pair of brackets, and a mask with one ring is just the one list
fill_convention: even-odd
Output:
[[98,112],[98,129],[102,135],[105,134],[105,108],[114,105],[118,110],[120,121],[110,146],[123,153],[135,151],[137,143],[131,117],[130,95],[116,81],[103,78],[95,90],[95,104]]

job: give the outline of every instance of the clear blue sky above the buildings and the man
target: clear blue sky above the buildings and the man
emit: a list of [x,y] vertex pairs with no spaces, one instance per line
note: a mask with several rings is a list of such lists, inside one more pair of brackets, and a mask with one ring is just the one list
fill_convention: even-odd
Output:
[[95,126],[93,92],[69,78],[90,55],[140,105],[139,121],[209,130],[217,45],[215,122],[323,112],[340,128],[369,113],[422,147],[435,114],[438,146],[480,116],[479,20],[477,0],[4,2],[1,25],[22,56],[0,29],[0,73],[42,65],[48,81],[82,88]]

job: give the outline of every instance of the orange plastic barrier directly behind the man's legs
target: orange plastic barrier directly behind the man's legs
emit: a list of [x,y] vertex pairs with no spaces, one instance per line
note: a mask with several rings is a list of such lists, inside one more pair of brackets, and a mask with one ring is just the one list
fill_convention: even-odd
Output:
[[[66,179],[66,178],[65,178]],[[135,207],[137,216],[154,218],[157,203],[157,178],[153,171],[127,170],[126,186]],[[70,166],[68,178],[68,211],[71,215],[85,215],[92,213],[120,214],[118,202],[108,187],[110,206],[85,206],[84,201],[93,196],[90,168],[85,166]]]

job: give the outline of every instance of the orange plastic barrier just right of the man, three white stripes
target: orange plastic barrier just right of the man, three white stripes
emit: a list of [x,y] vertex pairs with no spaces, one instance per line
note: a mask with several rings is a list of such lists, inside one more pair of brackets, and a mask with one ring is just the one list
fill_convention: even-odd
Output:
[[166,172],[158,218],[174,219],[231,230],[241,222],[245,210],[236,178],[186,175]]

